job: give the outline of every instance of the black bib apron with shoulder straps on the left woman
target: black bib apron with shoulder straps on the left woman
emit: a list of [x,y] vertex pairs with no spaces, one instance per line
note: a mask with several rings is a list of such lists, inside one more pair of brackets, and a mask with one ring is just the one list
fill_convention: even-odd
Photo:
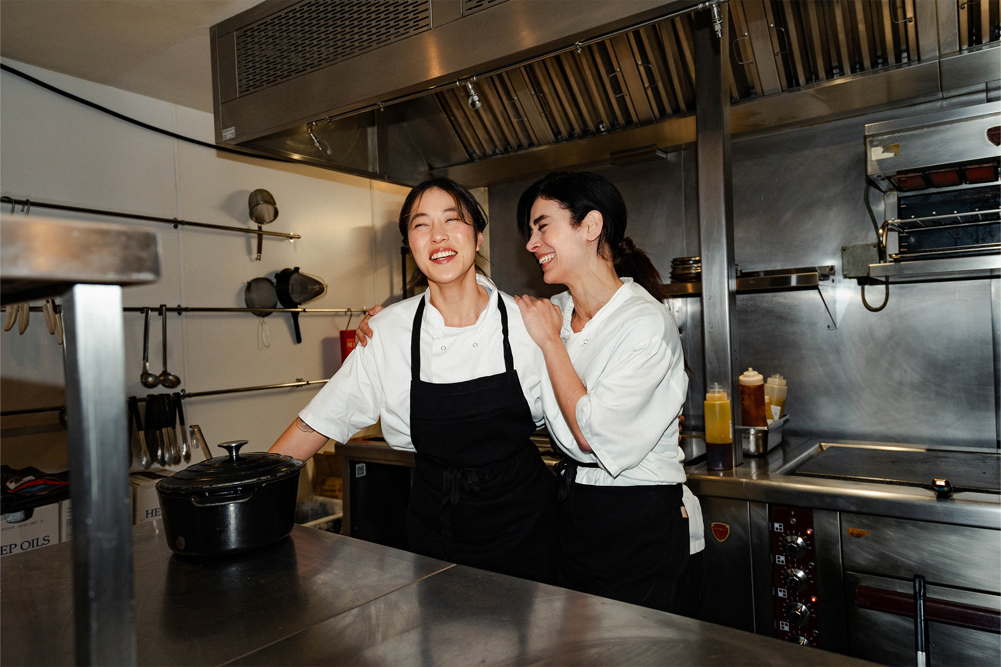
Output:
[[497,294],[505,372],[460,383],[420,380],[420,325],[410,338],[410,438],[415,473],[407,511],[410,551],[552,583],[559,531],[556,478],[529,437],[536,424]]

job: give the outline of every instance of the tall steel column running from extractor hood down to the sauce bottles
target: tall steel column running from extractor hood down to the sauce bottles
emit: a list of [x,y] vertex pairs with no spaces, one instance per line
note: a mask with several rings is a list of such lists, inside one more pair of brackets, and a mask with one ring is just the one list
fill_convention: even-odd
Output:
[[[718,12],[718,13],[717,13]],[[736,426],[741,422],[737,377],[737,272],[734,260],[730,151],[730,44],[728,8],[721,3],[695,14],[696,153],[699,174],[699,245],[706,387],[731,391],[734,443],[720,470],[744,463]],[[714,20],[715,19],[715,20]],[[720,33],[717,33],[717,30]]]

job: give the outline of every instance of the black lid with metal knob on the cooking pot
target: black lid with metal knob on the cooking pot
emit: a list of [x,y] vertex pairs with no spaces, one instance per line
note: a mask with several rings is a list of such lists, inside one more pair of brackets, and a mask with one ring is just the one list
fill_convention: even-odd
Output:
[[273,482],[294,474],[305,466],[304,461],[265,452],[240,454],[245,440],[220,443],[227,456],[213,457],[192,464],[160,482],[156,488],[164,493],[216,491]]

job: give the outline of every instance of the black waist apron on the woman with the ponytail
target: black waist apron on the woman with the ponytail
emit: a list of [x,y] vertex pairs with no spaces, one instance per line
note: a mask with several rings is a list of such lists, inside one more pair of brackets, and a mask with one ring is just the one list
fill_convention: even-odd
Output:
[[560,586],[671,613],[684,611],[689,563],[682,485],[599,487],[561,462]]

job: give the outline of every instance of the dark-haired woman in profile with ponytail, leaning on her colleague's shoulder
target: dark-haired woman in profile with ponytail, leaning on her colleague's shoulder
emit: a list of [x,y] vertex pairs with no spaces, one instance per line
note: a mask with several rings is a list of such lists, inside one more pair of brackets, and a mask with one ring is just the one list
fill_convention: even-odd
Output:
[[[559,471],[558,582],[691,615],[678,445],[688,378],[660,275],[625,237],[626,220],[616,186],[589,172],[551,173],[518,206],[544,279],[570,288],[516,298],[546,359],[547,425],[570,457]],[[689,505],[701,534],[691,495]]]

